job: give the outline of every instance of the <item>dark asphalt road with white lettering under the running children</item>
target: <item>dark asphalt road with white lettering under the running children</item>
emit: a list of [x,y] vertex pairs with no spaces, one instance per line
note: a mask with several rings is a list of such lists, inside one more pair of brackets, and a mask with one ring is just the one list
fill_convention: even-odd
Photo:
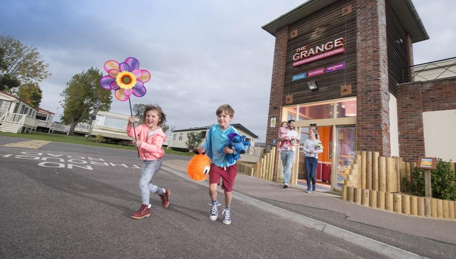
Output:
[[154,180],[170,206],[151,194],[151,217],[131,219],[134,151],[1,146],[21,140],[0,137],[0,258],[385,258],[236,199],[230,226],[211,221],[207,188],[165,171]]

